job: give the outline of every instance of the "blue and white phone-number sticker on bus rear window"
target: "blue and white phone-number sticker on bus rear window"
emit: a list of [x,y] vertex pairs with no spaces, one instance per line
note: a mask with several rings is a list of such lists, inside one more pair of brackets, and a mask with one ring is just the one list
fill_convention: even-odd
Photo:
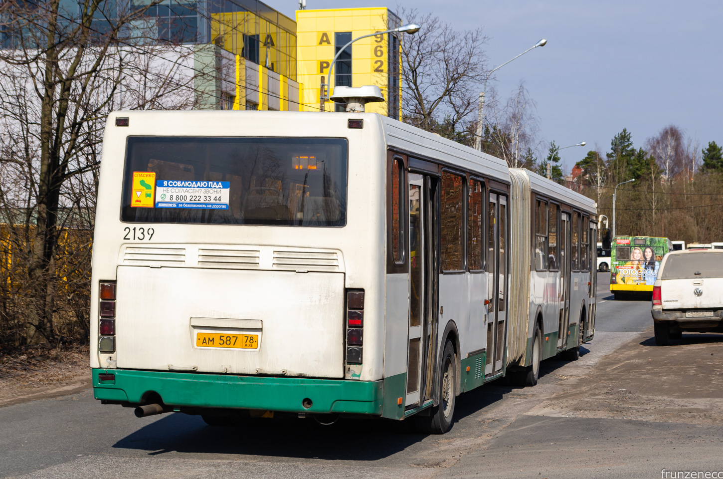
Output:
[[231,182],[159,179],[155,183],[155,207],[228,210],[230,187]]

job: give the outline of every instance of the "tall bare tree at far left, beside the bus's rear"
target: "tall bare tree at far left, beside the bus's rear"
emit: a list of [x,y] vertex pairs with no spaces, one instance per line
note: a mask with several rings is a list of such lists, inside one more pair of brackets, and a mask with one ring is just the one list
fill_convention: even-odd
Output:
[[[143,27],[160,1],[0,5],[1,222],[13,264],[22,264],[9,288],[20,298],[29,343],[54,339],[61,316],[87,314],[106,116],[121,101],[127,109],[179,106],[179,90],[192,86],[194,75],[176,75],[182,52],[168,55],[174,44],[160,45],[157,32]],[[85,304],[74,310],[58,302],[80,295]]]

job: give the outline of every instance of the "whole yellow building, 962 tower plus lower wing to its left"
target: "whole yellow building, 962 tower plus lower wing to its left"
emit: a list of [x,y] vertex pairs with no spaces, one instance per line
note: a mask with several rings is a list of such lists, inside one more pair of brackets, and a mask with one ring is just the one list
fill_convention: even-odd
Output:
[[[296,22],[259,0],[213,0],[194,44],[194,108],[320,111],[322,77],[336,85],[376,85],[385,101],[367,111],[401,119],[401,33],[387,8],[299,10]],[[201,19],[199,20],[201,22]],[[204,36],[202,32],[208,32]],[[202,40],[203,38],[203,40]],[[193,42],[192,42],[193,43]],[[344,111],[325,101],[325,111]]]

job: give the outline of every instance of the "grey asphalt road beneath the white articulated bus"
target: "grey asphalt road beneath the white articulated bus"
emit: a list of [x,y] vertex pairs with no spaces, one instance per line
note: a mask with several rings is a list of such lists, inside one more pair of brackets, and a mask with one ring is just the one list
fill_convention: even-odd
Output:
[[[607,276],[599,274],[595,339],[580,360],[544,361],[533,388],[496,381],[463,394],[444,436],[412,433],[408,423],[388,420],[322,427],[294,418],[214,428],[182,414],[137,419],[132,410],[101,405],[88,390],[1,407],[0,477],[660,478],[662,469],[723,470],[723,423],[715,416],[641,420],[616,409],[630,396],[630,386],[613,384],[616,371],[625,370],[620,376],[640,381],[644,390],[645,381],[656,381],[650,355],[660,349],[649,347],[649,302],[613,300]],[[709,336],[703,344],[684,339],[670,351],[697,347],[701,355],[710,348],[719,354],[723,340]],[[626,359],[615,363],[623,351]],[[625,369],[630,363],[648,369],[638,378],[643,369]],[[604,393],[585,396],[600,383]],[[716,410],[716,391],[696,400]],[[620,400],[600,399],[596,406],[596,397],[615,393]],[[577,400],[565,402],[576,394],[583,395],[578,409]]]

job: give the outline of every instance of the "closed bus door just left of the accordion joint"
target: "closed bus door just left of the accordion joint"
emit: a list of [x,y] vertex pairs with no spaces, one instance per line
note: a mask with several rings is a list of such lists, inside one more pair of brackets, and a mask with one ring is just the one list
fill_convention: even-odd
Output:
[[507,197],[489,194],[487,239],[488,296],[487,359],[485,376],[502,372],[505,363],[505,326],[507,321]]

